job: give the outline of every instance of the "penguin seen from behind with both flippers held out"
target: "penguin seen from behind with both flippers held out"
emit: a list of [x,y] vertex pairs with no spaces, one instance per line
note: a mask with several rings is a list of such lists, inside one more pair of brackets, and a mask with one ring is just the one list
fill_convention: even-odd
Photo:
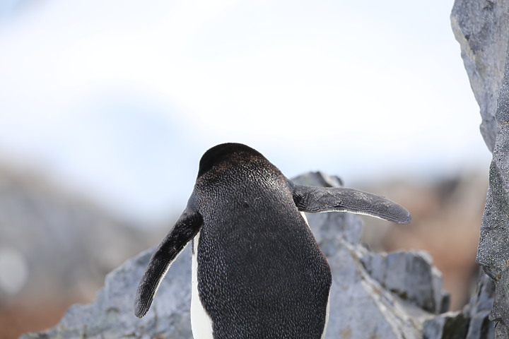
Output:
[[214,146],[201,157],[187,207],[148,263],[134,313],[146,314],[170,264],[192,242],[195,339],[324,338],[332,274],[304,212],[333,211],[411,221],[381,196],[294,184],[247,145]]

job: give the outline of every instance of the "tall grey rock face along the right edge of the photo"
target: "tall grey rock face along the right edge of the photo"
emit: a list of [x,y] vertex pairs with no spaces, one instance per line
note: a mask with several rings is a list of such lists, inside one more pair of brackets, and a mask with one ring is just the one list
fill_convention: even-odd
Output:
[[457,0],[451,21],[493,152],[476,261],[496,285],[491,319],[509,333],[509,1]]

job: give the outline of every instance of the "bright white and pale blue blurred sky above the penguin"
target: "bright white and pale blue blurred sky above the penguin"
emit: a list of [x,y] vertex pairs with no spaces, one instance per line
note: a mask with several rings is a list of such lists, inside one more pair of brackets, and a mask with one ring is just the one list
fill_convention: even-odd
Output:
[[488,170],[452,1],[4,7],[0,157],[121,214],[182,210],[199,157],[228,141],[346,184]]

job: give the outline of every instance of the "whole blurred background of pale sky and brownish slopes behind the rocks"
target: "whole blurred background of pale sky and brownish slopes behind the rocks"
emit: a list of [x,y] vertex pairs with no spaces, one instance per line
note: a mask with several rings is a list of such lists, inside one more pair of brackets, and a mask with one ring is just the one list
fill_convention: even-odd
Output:
[[0,338],[157,244],[223,142],[402,203],[363,241],[429,251],[461,309],[491,154],[452,3],[0,1]]

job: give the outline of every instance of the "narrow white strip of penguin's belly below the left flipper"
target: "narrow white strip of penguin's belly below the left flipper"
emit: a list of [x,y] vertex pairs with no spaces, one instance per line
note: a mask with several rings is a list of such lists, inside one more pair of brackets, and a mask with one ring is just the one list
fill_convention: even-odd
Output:
[[192,295],[191,295],[191,328],[194,339],[213,339],[212,319],[206,313],[198,295],[198,242],[199,232],[194,237],[192,254]]

